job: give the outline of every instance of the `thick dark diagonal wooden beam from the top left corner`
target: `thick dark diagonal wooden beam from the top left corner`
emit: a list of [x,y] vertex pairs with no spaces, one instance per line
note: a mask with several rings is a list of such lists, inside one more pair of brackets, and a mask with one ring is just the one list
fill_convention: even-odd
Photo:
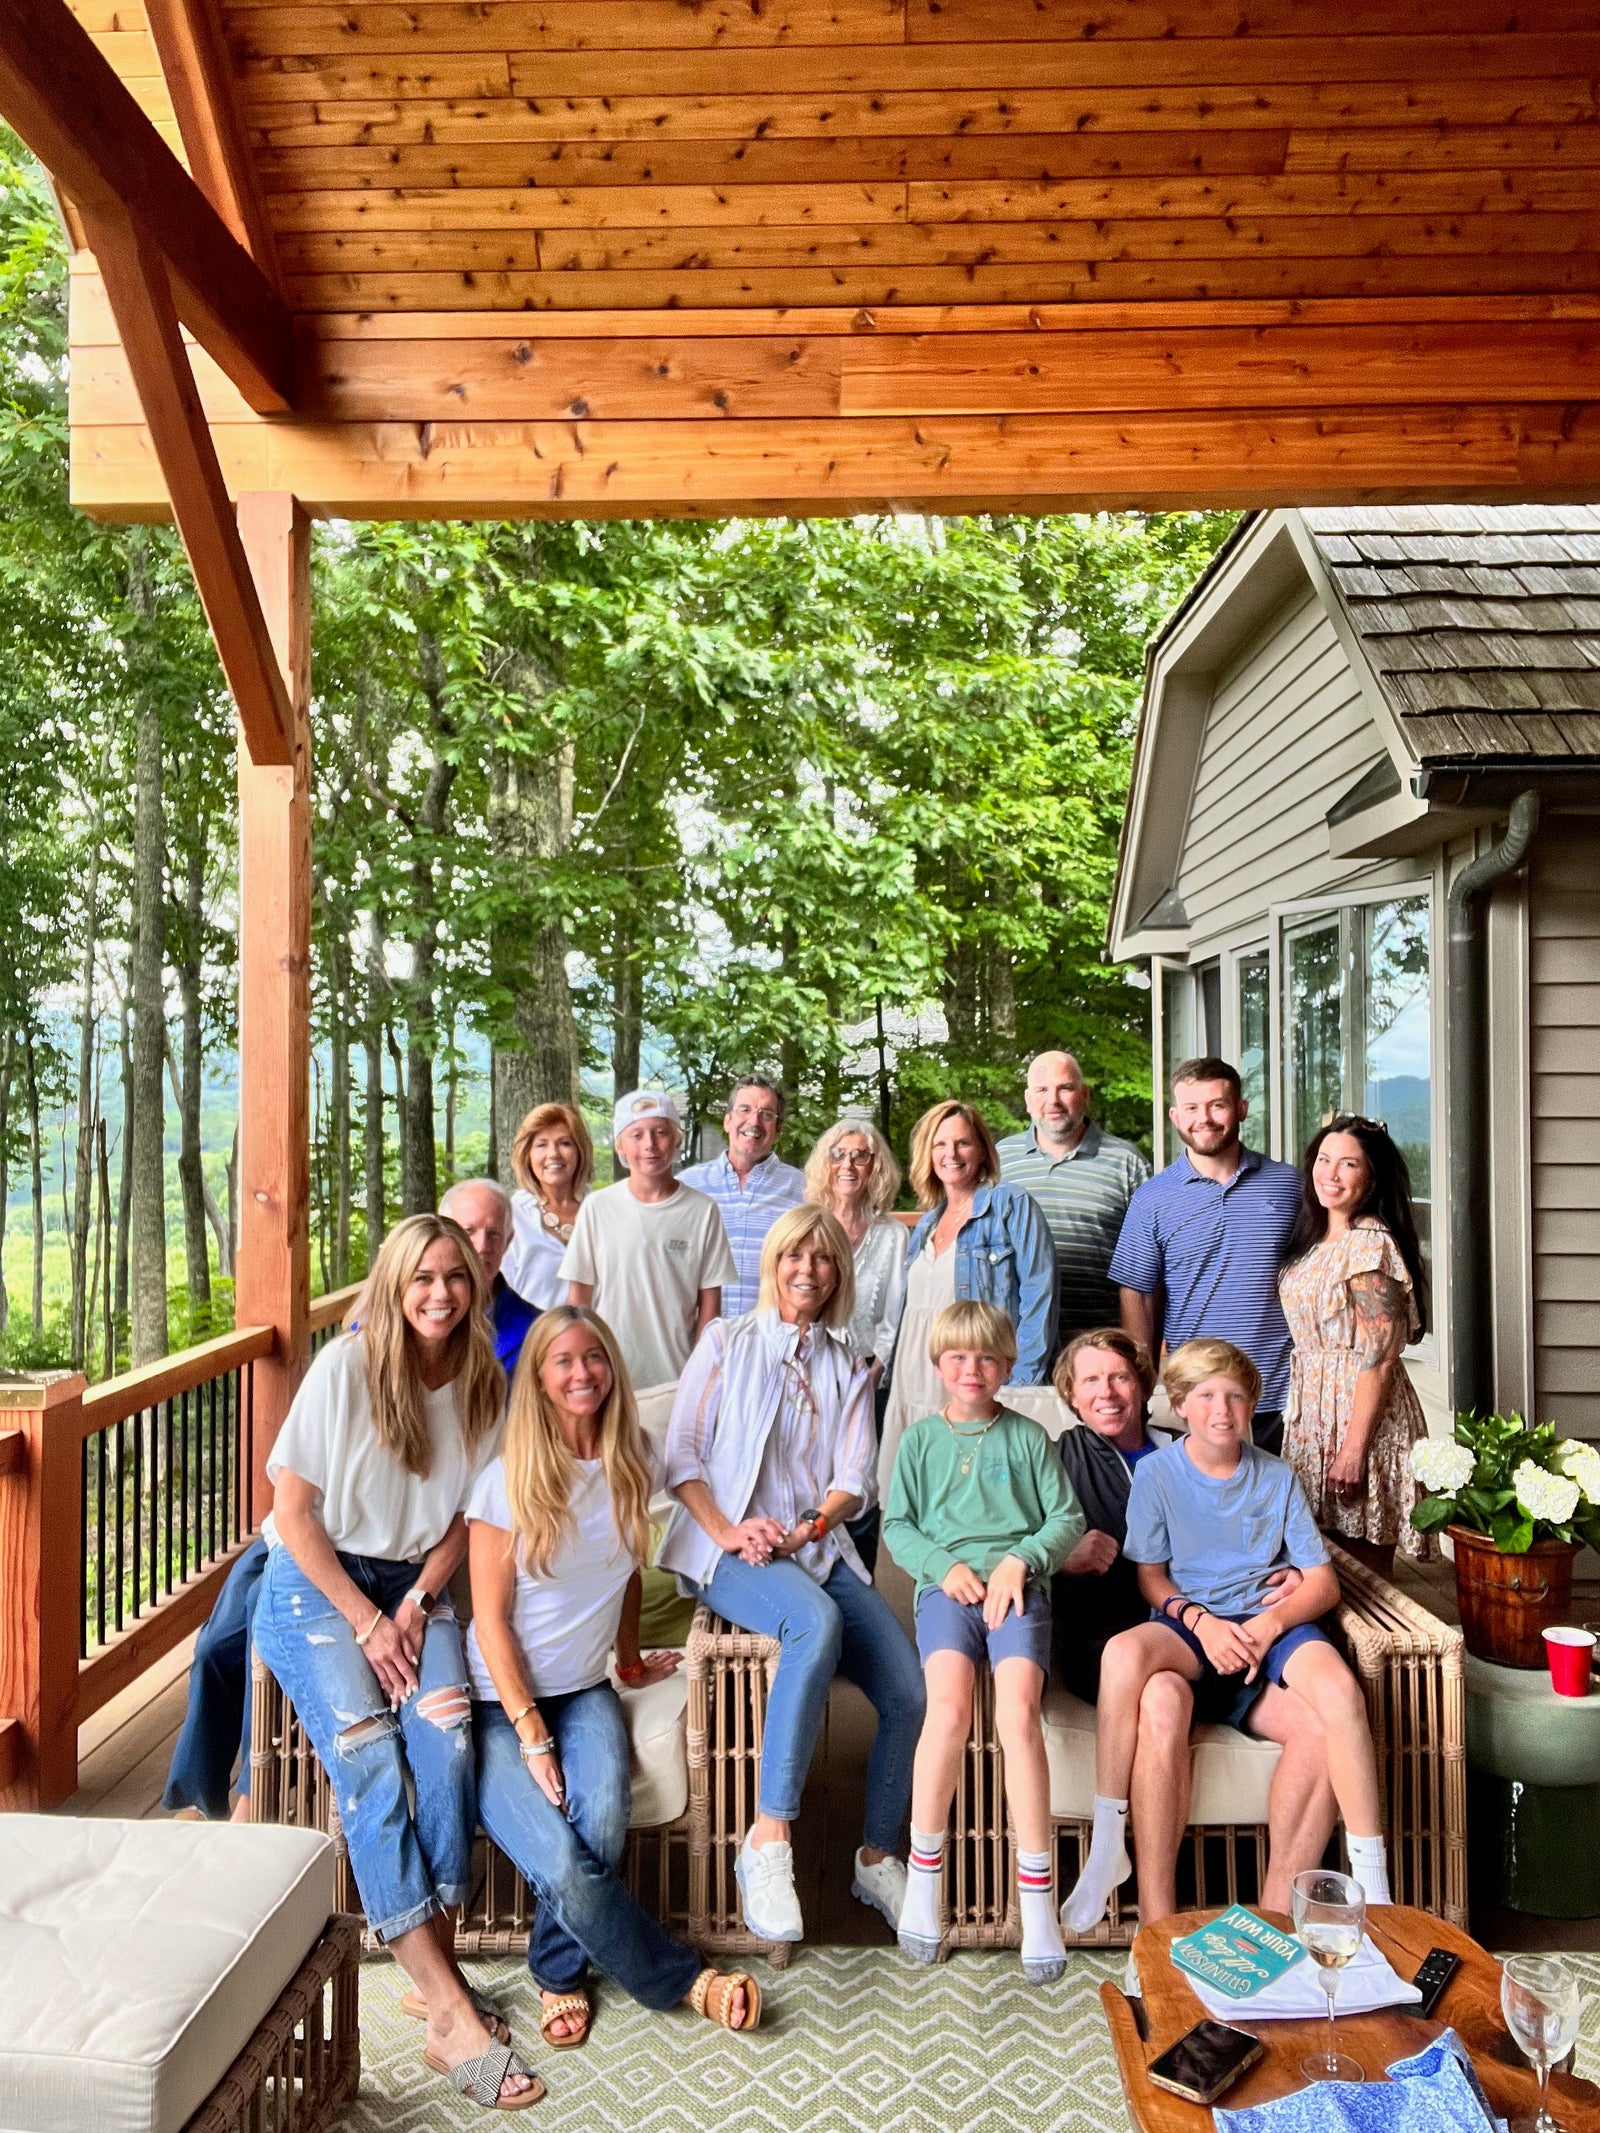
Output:
[[0,9],[0,113],[85,215],[130,220],[183,324],[258,414],[294,399],[294,331],[256,260],[173,156],[66,0]]

